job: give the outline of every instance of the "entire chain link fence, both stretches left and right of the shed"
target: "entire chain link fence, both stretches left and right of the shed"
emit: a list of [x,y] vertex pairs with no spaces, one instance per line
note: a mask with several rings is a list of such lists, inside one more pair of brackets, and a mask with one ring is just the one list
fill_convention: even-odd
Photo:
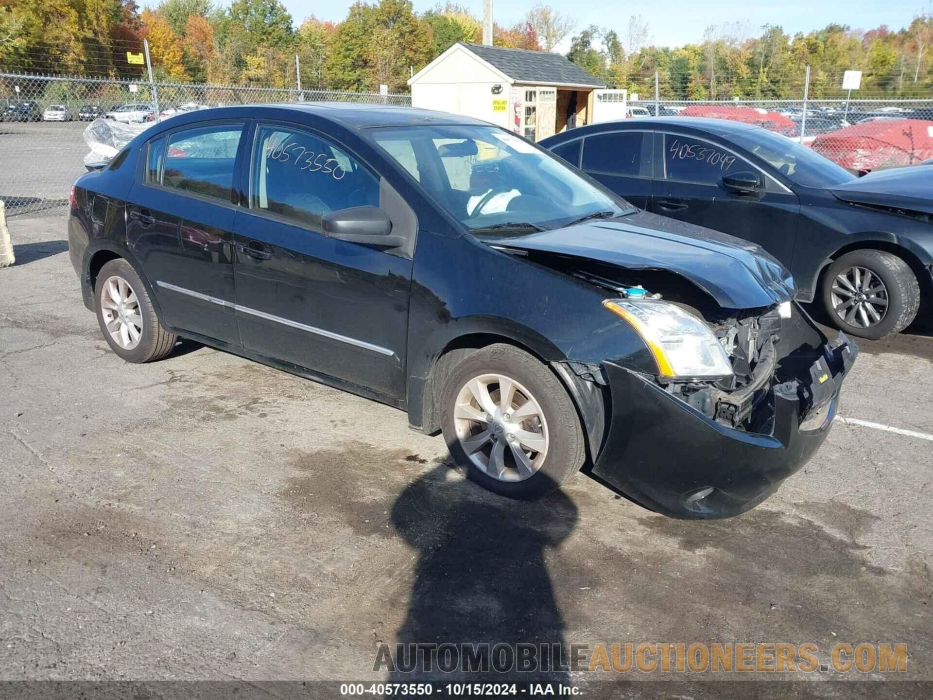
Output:
[[[214,106],[328,100],[411,105],[405,94],[0,73],[0,199],[7,216],[66,211],[88,152],[82,121],[109,115],[146,123]],[[933,159],[933,99],[638,100],[628,116],[757,124],[858,173]]]

